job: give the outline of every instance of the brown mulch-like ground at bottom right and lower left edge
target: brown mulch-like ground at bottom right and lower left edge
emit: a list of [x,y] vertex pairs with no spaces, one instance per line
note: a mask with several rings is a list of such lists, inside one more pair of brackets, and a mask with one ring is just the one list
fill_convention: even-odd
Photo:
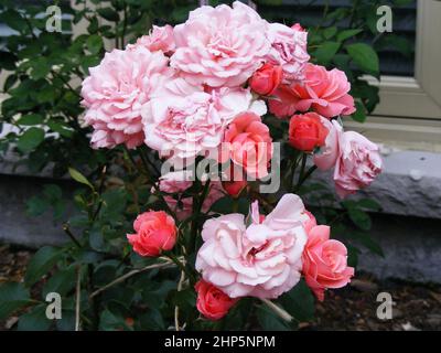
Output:
[[[32,253],[0,245],[0,285],[20,281]],[[376,315],[379,292],[390,293],[394,300],[392,319]],[[0,321],[0,331],[13,329],[18,318]],[[314,322],[301,323],[301,330],[357,331],[441,331],[441,285],[421,285],[398,280],[379,281],[367,274],[358,274],[351,286],[327,291],[325,301],[316,306]]]

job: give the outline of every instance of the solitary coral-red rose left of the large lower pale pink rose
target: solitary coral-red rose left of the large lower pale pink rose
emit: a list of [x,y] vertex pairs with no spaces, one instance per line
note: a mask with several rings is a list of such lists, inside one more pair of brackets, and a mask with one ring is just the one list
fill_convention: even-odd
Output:
[[171,250],[176,243],[174,220],[163,211],[140,214],[133,228],[137,233],[128,234],[127,238],[140,256],[160,256],[162,250]]

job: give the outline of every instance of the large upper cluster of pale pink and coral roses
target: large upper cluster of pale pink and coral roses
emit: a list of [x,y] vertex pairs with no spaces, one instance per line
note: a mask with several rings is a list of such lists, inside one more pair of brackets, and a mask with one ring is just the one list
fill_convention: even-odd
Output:
[[314,152],[320,169],[335,167],[341,196],[353,193],[380,172],[378,149],[326,121],[355,111],[351,84],[343,72],[309,63],[306,40],[299,24],[268,23],[241,2],[201,7],[174,28],[153,26],[107,53],[84,81],[92,143],[146,143],[174,163],[220,150],[222,162],[263,178],[272,153],[261,120],[267,101],[270,113],[290,118],[291,145]]

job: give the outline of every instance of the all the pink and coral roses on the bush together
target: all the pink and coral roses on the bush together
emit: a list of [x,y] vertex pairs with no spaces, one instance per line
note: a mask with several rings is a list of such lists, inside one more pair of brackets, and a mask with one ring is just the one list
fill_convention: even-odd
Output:
[[326,288],[354,276],[346,247],[330,239],[330,227],[316,225],[298,195],[284,194],[267,215],[254,202],[247,218],[213,217],[214,202],[225,193],[238,197],[247,180],[205,180],[205,199],[195,204],[187,193],[192,179],[176,171],[215,153],[216,162],[228,163],[229,176],[267,176],[273,158],[263,117],[269,110],[289,120],[284,140],[293,149],[312,156],[320,170],[334,169],[341,197],[369,185],[381,159],[375,143],[343,129],[341,117],[355,113],[351,84],[344,72],[310,63],[306,45],[300,24],[269,23],[238,1],[204,6],[184,23],[153,26],[135,44],[107,53],[83,83],[95,148],[147,145],[175,167],[152,189],[174,218],[163,211],[138,216],[128,235],[133,250],[160,256],[175,245],[175,222],[197,216],[195,210],[208,218],[195,264],[202,277],[197,309],[207,319],[220,319],[243,297],[276,299],[302,276],[323,300]]

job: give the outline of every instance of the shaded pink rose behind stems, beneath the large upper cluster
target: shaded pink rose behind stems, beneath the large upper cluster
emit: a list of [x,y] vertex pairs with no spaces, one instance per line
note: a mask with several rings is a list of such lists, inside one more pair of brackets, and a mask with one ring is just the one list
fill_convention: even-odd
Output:
[[[193,184],[192,172],[178,171],[162,175],[159,181],[160,191],[173,195],[165,195],[164,200],[169,207],[176,214],[176,218],[182,221],[190,217],[193,213],[193,197],[183,196],[182,193]],[[205,182],[203,182],[205,184]],[[209,191],[202,205],[202,212],[208,212],[209,207],[224,196],[219,181],[212,180]]]

